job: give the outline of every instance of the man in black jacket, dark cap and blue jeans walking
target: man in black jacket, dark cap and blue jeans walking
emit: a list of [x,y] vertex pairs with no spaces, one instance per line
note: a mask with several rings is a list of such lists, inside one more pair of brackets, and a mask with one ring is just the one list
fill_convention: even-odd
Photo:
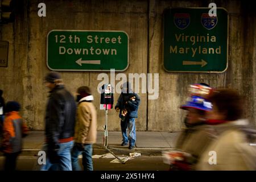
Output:
[[76,102],[65,89],[59,73],[49,72],[44,79],[50,91],[45,118],[47,160],[41,170],[71,171]]

